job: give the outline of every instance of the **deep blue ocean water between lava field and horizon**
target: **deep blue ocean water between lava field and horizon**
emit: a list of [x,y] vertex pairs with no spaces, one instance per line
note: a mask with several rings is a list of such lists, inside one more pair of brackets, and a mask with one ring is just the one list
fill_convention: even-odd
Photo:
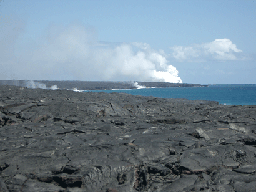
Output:
[[132,95],[188,100],[214,100],[224,105],[256,105],[256,84],[208,85],[208,87],[169,87],[126,90],[94,90],[124,92]]

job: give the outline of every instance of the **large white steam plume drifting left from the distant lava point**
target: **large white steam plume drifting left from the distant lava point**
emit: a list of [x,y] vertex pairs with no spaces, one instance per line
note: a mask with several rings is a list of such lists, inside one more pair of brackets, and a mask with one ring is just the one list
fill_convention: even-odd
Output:
[[[99,42],[97,32],[91,26],[79,23],[51,25],[33,42],[18,39],[17,32],[2,34],[0,50],[5,52],[4,55],[0,52],[0,57],[5,59],[0,61],[0,75],[3,79],[182,83],[177,69],[169,64],[164,51],[137,42]],[[14,42],[9,45],[4,41],[6,38],[21,43],[16,41],[14,49]]]

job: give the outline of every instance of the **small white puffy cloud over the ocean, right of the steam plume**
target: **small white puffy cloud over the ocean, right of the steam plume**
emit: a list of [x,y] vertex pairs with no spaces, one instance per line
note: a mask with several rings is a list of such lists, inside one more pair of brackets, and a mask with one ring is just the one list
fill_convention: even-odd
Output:
[[204,44],[193,44],[191,46],[174,46],[172,57],[177,60],[205,61],[205,60],[240,60],[242,50],[230,39],[215,39],[215,41]]

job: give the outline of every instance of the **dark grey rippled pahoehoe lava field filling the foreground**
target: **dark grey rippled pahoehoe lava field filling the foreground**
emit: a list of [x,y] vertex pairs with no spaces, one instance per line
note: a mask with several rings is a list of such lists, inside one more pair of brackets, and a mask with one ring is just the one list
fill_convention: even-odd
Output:
[[0,86],[0,191],[255,191],[256,105]]

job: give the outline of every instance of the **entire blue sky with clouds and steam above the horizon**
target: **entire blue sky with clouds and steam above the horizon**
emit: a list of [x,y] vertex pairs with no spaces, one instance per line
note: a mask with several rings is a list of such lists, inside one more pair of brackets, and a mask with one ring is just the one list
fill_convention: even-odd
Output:
[[0,79],[256,83],[256,1],[0,0]]

